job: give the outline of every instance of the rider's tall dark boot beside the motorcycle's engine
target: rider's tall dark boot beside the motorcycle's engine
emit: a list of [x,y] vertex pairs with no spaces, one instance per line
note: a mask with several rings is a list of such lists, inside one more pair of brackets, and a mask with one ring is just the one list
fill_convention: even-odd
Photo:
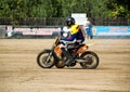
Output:
[[65,65],[69,65],[74,61],[72,54],[68,51],[66,51],[65,48],[62,48],[61,50],[63,51],[63,54],[67,57]]

